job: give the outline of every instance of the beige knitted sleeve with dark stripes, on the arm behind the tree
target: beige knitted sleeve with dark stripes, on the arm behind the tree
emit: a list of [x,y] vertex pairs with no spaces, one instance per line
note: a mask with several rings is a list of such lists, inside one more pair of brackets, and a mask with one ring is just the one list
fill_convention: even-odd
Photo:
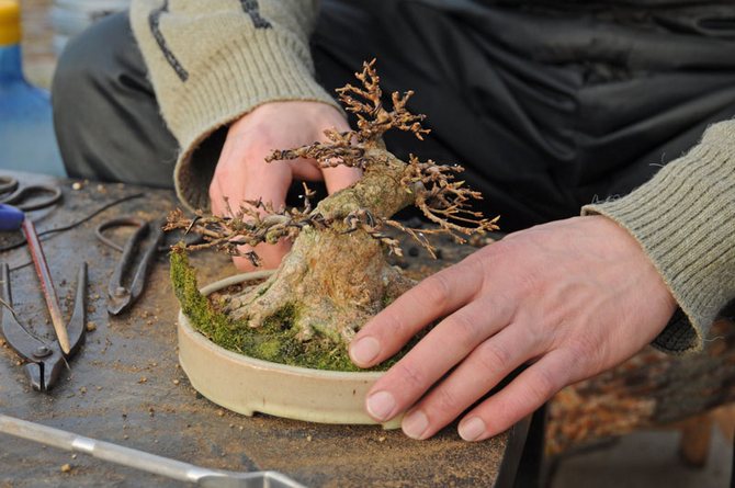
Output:
[[215,129],[276,100],[335,104],[314,80],[308,35],[317,2],[135,0],[131,25],[161,114],[181,147],[176,183],[206,206],[214,161],[192,161]]

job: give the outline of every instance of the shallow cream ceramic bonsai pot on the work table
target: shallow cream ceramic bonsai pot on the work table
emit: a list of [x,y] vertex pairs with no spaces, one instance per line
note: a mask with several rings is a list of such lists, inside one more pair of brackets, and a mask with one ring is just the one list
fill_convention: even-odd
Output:
[[[227,286],[262,279],[245,273],[201,290],[208,295]],[[364,398],[381,372],[337,372],[287,366],[228,351],[193,329],[179,311],[179,362],[192,386],[228,410],[269,413],[320,423],[377,423],[364,410]],[[399,427],[400,419],[383,428]]]

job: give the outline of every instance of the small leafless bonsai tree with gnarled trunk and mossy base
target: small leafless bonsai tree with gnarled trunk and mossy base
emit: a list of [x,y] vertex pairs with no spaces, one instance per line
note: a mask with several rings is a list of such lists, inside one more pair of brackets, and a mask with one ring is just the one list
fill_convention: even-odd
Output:
[[[167,229],[186,229],[204,238],[203,243],[174,249],[172,273],[184,313],[215,342],[248,352],[241,339],[233,339],[246,329],[272,329],[287,333],[295,347],[316,348],[338,358],[317,367],[346,366],[347,344],[360,327],[414,285],[386,261],[386,253],[402,254],[398,240],[386,234],[387,228],[407,232],[431,256],[431,235],[449,234],[464,242],[474,232],[497,229],[497,217],[484,218],[471,209],[470,201],[480,195],[454,180],[462,167],[423,162],[415,156],[405,162],[385,149],[382,135],[388,129],[409,132],[419,139],[429,130],[421,126],[423,115],[406,109],[411,91],[403,95],[394,92],[391,106],[383,104],[374,61],[365,63],[362,72],[355,73],[360,87],[347,84],[337,90],[346,109],[357,115],[355,130],[329,129],[325,132],[326,143],[274,150],[267,159],[278,164],[310,158],[323,168],[360,168],[360,181],[316,206],[310,202],[313,192],[304,185],[302,208],[273,208],[262,201],[250,201],[229,208],[231,217],[196,212],[193,219],[188,219],[180,211],[169,216]],[[392,219],[408,205],[418,207],[434,227],[410,228]],[[224,294],[215,304],[204,304],[197,296],[185,250],[214,247],[241,254],[244,245],[255,247],[283,238],[293,241],[292,250],[265,281]],[[259,264],[255,252],[246,254]],[[268,341],[256,343],[263,359],[278,355],[281,348]]]

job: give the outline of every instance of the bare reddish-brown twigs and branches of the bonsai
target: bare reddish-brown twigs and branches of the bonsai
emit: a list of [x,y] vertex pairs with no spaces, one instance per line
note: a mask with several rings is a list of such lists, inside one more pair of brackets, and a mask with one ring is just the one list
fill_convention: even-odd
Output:
[[[363,171],[381,171],[381,166],[388,162],[376,152],[376,149],[382,144],[381,138],[386,130],[391,128],[406,130],[419,139],[429,133],[429,129],[421,126],[425,116],[414,115],[406,107],[412,95],[411,91],[403,95],[394,92],[391,95],[391,107],[384,106],[374,59],[363,64],[362,72],[355,73],[355,77],[362,87],[347,84],[337,92],[346,110],[355,114],[357,130],[342,133],[335,129],[325,130],[326,141],[294,149],[274,150],[267,161],[306,158],[316,160],[321,168],[342,164]],[[313,196],[313,192],[304,185],[304,207],[301,209],[275,209],[262,201],[242,202],[237,209],[233,209],[226,201],[227,217],[205,215],[200,211],[194,219],[190,220],[181,211],[176,211],[169,215],[165,229],[182,228],[200,234],[204,242],[189,246],[190,250],[214,247],[228,254],[245,256],[255,265],[259,263],[257,254],[251,250],[244,251],[242,246],[275,243],[280,239],[293,240],[306,226],[319,230],[339,227],[339,231],[343,234],[361,230],[385,245],[389,252],[402,256],[398,240],[383,232],[384,227],[394,227],[408,234],[434,258],[436,249],[428,236],[445,234],[456,242],[464,243],[465,236],[498,229],[498,217],[488,219],[483,217],[482,213],[472,211],[471,202],[482,200],[482,195],[464,186],[464,181],[454,180],[455,174],[463,171],[462,167],[437,164],[432,160],[422,162],[412,155],[408,163],[402,164],[405,164],[405,169],[403,177],[396,182],[395,191],[412,195],[414,204],[426,218],[437,225],[437,228],[414,229],[392,220],[391,215],[373,215],[366,208],[353,209],[341,217],[324,216],[312,208],[309,197]]]

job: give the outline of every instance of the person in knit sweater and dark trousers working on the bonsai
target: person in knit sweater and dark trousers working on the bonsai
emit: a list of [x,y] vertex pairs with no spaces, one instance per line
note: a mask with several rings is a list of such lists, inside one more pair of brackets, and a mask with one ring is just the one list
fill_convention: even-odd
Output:
[[[360,178],[263,158],[347,129],[328,88],[377,58],[384,90],[415,90],[432,129],[387,147],[465,164],[511,232],[399,297],[350,354],[372,366],[439,320],[366,409],[405,412],[415,439],[461,417],[460,435],[480,441],[648,343],[701,350],[735,296],[733,13],[696,0],[134,0],[129,22],[102,21],[63,55],[57,135],[74,177],[168,186],[173,173],[192,208],[278,207],[294,180],[335,192]],[[256,250],[274,266],[287,246]]]

